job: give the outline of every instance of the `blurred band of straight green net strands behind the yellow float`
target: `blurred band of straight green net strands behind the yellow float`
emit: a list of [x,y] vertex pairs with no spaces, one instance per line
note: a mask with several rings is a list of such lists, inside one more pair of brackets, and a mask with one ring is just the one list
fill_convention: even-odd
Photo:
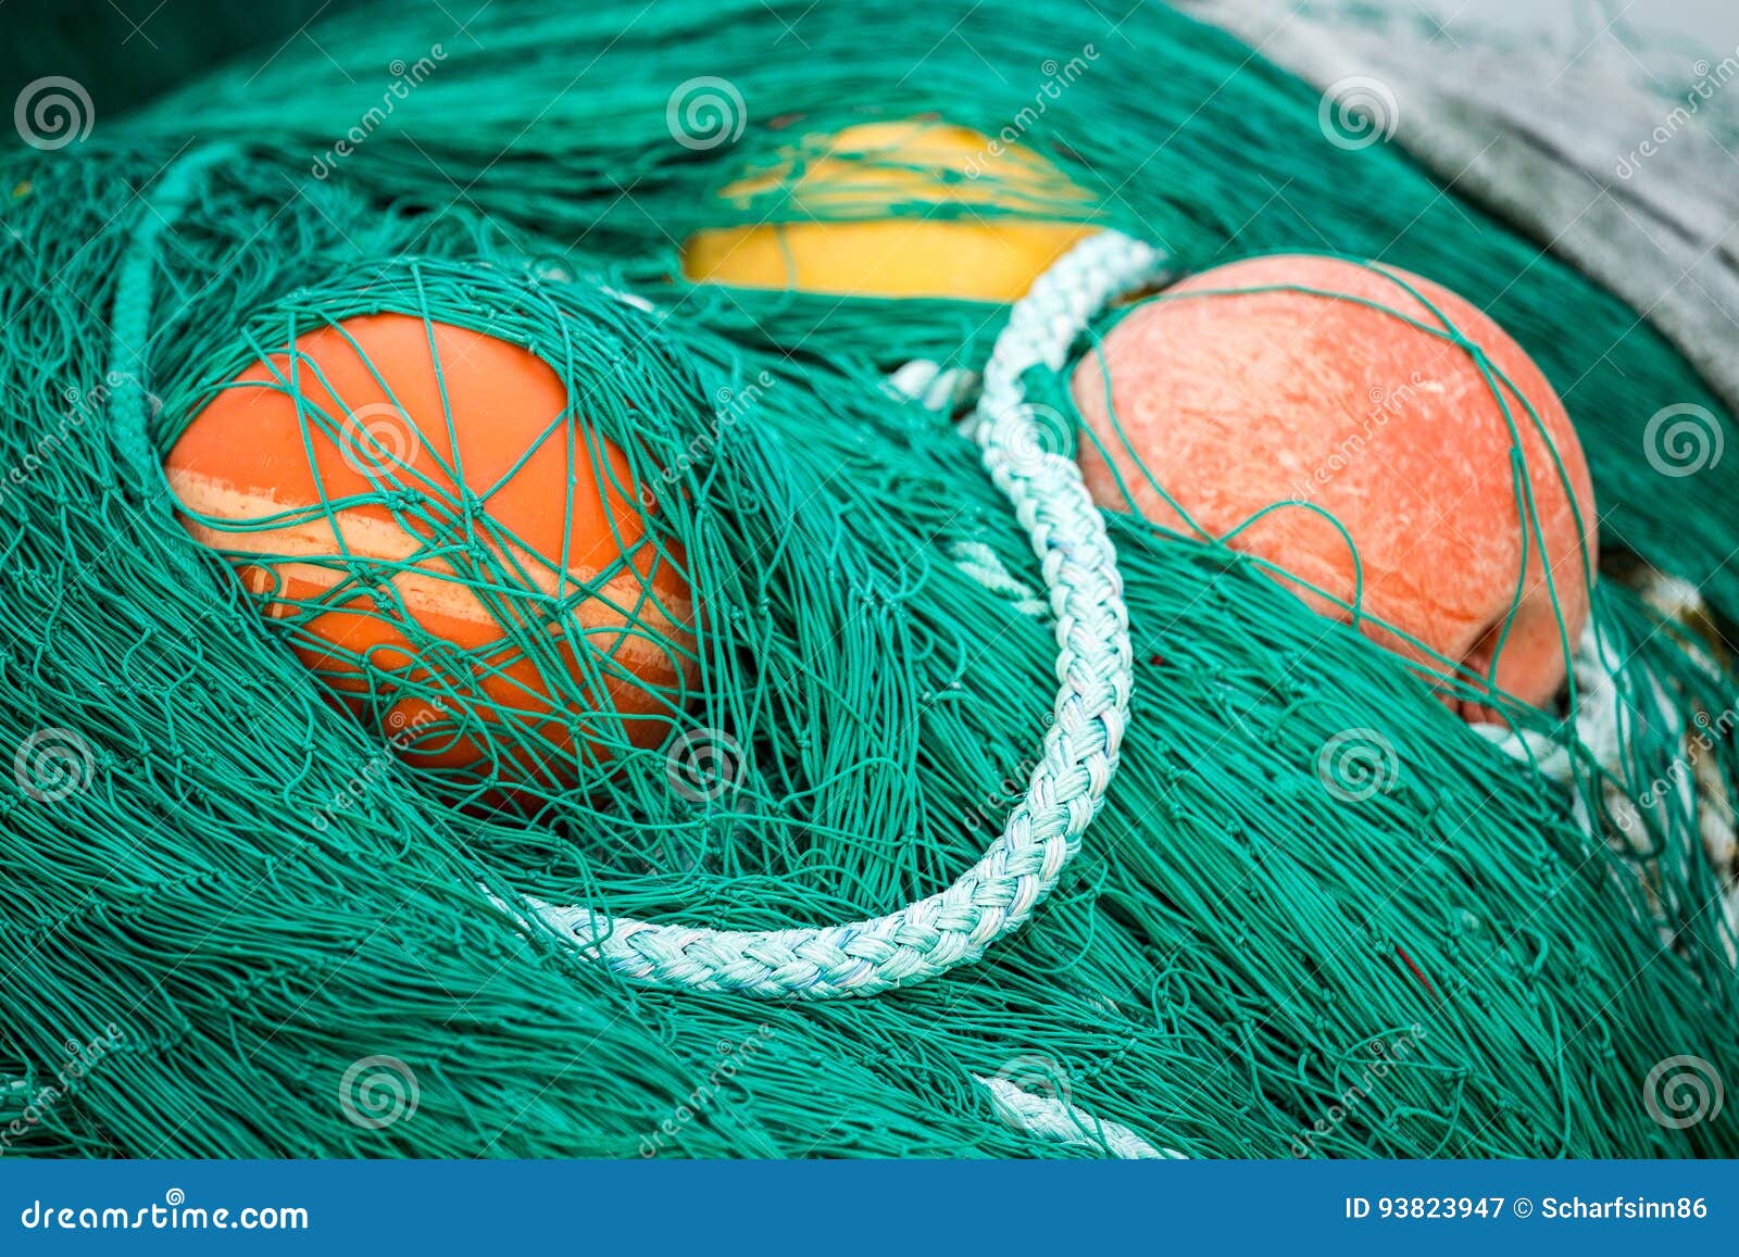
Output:
[[[1097,196],[1097,221],[1167,249],[1186,269],[1327,249],[1426,275],[1487,309],[1576,416],[1603,490],[1603,535],[1654,555],[1725,615],[1739,614],[1739,577],[1727,563],[1739,522],[1725,509],[1739,494],[1739,464],[1723,459],[1662,495],[1636,457],[1662,405],[1701,405],[1723,429],[1725,409],[1636,311],[1443,191],[1396,146],[1325,143],[1318,90],[1221,31],[1134,0],[922,12],[817,5],[795,23],[800,40],[786,30],[796,14],[756,0],[661,3],[630,24],[610,5],[577,14],[508,3],[482,10],[461,35],[440,12],[363,10],[330,24],[325,56],[238,63],[136,125],[179,143],[197,116],[203,137],[268,148],[287,167],[325,170],[383,200],[471,207],[527,240],[614,256],[628,287],[657,296],[670,285],[673,301],[737,337],[878,365],[981,362],[1002,313],[696,292],[675,280],[682,242],[706,226],[798,216],[779,188],[748,203],[716,193],[786,160],[803,136],[929,115],[986,136],[1012,129]],[[703,85],[689,87],[696,80]],[[704,80],[723,80],[734,96]],[[697,97],[718,108],[683,130],[671,108]],[[675,143],[673,125],[710,146]],[[339,156],[346,137],[360,141]],[[857,209],[833,198],[805,212]],[[995,210],[976,203],[974,212]],[[1683,529],[1685,518],[1699,527]]]

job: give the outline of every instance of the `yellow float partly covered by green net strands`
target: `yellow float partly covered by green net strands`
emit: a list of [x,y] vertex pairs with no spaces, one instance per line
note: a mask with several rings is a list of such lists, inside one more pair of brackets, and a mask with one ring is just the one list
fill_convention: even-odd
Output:
[[[720,196],[748,202],[781,184],[798,214],[823,217],[697,231],[683,247],[683,275],[861,297],[1014,301],[1090,233],[1082,223],[976,214],[1023,202],[1085,210],[1087,195],[1031,150],[937,122],[847,127],[819,156],[805,160],[791,148],[774,170],[739,179]],[[909,209],[899,217],[838,217],[842,207],[866,202]],[[937,207],[956,216],[932,217]]]

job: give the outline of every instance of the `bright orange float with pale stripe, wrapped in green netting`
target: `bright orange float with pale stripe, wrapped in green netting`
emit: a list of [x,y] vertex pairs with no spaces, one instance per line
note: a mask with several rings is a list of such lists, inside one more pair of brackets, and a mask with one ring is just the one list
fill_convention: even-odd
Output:
[[581,744],[609,758],[605,713],[663,741],[694,648],[683,558],[649,542],[617,445],[581,428],[570,449],[555,370],[407,315],[294,349],[200,410],[165,471],[266,614],[306,615],[294,650],[336,701],[407,760],[506,786],[570,781]]

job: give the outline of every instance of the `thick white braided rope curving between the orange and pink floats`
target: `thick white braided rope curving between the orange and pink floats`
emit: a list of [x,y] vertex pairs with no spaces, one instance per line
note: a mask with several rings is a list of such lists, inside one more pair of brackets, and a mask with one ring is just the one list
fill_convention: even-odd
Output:
[[1108,301],[1163,275],[1153,249],[1106,233],[1059,259],[996,337],[979,398],[977,443],[1040,558],[1057,626],[1057,680],[1038,767],[984,857],[941,894],[868,921],[791,930],[713,930],[525,904],[610,970],[690,991],[826,1000],[875,994],[977,960],[1056,887],[1116,772],[1129,715],[1129,614],[1104,522],[1075,461],[1043,449],[1021,374],[1063,370]]

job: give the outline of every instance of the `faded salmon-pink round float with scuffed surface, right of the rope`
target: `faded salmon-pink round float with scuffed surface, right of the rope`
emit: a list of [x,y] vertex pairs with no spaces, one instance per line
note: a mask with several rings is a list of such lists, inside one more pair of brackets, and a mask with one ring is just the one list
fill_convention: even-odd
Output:
[[[1449,320],[1508,382],[1489,382],[1464,348],[1388,311],[1429,329]],[[1109,452],[1108,462],[1083,442],[1082,471],[1096,501],[1129,509],[1134,499],[1153,522],[1193,532],[1163,487],[1214,537],[1273,502],[1313,502],[1358,549],[1367,615],[1475,676],[1494,676],[1525,702],[1553,697],[1567,664],[1551,589],[1574,645],[1596,558],[1593,487],[1558,395],[1483,311],[1395,268],[1257,257],[1169,289],[1120,322],[1103,348],[1104,360],[1089,355],[1073,377],[1076,405]],[[1527,544],[1516,440],[1499,396],[1520,433],[1539,513]],[[1320,515],[1283,508],[1229,544],[1297,577],[1287,584],[1318,610],[1348,619],[1337,603],[1355,596],[1353,551]],[[1409,659],[1429,659],[1395,631],[1363,628]]]

